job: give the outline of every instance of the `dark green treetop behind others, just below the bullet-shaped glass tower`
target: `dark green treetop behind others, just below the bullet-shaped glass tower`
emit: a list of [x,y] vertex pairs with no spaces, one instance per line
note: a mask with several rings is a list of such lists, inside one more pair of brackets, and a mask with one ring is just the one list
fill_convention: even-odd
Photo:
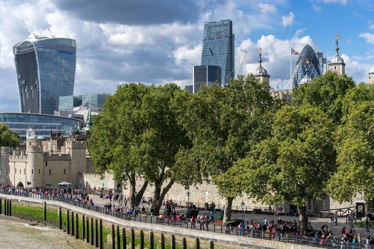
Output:
[[342,101],[347,90],[354,88],[356,82],[346,74],[327,71],[323,76],[310,83],[292,89],[291,105],[311,105],[319,107],[336,124],[340,124],[343,116]]

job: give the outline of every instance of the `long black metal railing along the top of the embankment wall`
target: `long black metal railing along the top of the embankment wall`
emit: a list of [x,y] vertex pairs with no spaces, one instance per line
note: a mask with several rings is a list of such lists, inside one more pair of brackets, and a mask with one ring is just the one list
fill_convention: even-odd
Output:
[[29,198],[36,198],[36,199],[44,199],[44,200],[55,200],[64,202],[70,205],[74,205],[77,207],[89,209],[92,211],[99,212],[101,214],[110,215],[113,217],[117,217],[123,220],[128,221],[137,221],[137,222],[145,222],[151,224],[159,224],[159,225],[167,225],[167,226],[174,226],[186,229],[196,229],[196,230],[203,230],[209,231],[214,233],[222,233],[222,234],[232,234],[236,236],[245,236],[251,237],[255,239],[266,239],[266,240],[276,240],[279,242],[285,243],[292,243],[298,245],[309,245],[309,246],[316,246],[316,247],[323,247],[323,248],[333,248],[333,249],[374,249],[373,245],[366,245],[365,243],[351,243],[351,242],[344,242],[342,240],[331,240],[331,239],[322,239],[322,238],[315,238],[315,237],[307,237],[301,235],[294,235],[294,234],[287,234],[287,233],[272,233],[269,231],[260,231],[260,230],[251,230],[251,229],[240,229],[237,227],[232,226],[223,226],[223,225],[216,225],[211,222],[190,222],[188,220],[174,220],[174,219],[164,219],[159,217],[153,217],[143,215],[143,214],[128,214],[126,212],[119,212],[112,209],[107,209],[101,206],[90,205],[87,203],[78,202],[76,200],[67,199],[64,197],[56,197],[56,196],[46,196],[44,194],[33,194],[33,193],[21,193],[13,192],[13,191],[1,191],[2,194],[9,194],[13,196],[24,196]]

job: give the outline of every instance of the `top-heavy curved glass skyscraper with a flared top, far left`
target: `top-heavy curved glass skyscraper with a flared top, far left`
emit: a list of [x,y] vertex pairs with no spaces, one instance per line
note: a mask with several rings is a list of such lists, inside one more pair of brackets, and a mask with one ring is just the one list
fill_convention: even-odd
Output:
[[[73,95],[76,41],[28,38],[13,46],[20,112],[53,114],[58,97]],[[29,127],[30,128],[30,127]]]

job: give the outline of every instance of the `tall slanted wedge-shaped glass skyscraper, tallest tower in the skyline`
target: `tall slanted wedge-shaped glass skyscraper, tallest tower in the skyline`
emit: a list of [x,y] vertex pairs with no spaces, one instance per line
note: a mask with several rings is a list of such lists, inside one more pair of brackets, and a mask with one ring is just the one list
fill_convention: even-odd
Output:
[[235,68],[235,35],[232,21],[207,22],[204,25],[201,65],[221,66],[221,83],[229,85]]

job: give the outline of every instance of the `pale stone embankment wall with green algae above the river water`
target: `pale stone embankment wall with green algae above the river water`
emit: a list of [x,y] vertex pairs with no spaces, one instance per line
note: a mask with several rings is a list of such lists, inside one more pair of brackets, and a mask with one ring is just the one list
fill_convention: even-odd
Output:
[[[13,216],[27,220],[36,220],[45,224],[52,224],[67,231],[67,233],[74,235],[77,239],[88,238],[89,243],[92,241],[92,244],[97,246],[102,243],[102,248],[123,248],[124,240],[127,248],[142,248],[140,246],[141,237],[144,241],[144,248],[151,248],[151,235],[154,238],[154,247],[152,248],[171,248],[172,237],[175,238],[175,248],[182,248],[183,243],[186,243],[186,248],[196,248],[197,238],[199,240],[200,248],[211,249],[313,248],[311,246],[288,244],[273,240],[252,239],[249,237],[240,237],[229,234],[211,233],[167,225],[122,220],[120,218],[111,217],[88,209],[68,205],[67,203],[31,199],[29,197],[21,196],[9,196],[6,194],[0,194],[2,213],[4,212],[4,200],[6,199],[11,201],[11,211]],[[91,223],[93,224],[93,229],[91,229]],[[85,224],[85,226],[83,226],[83,224]],[[96,224],[98,225],[96,226]],[[99,224],[102,224],[102,228],[99,227]],[[87,236],[87,227],[89,227],[89,236]],[[123,229],[124,233],[122,234]],[[85,230],[85,233],[83,233],[83,230]],[[101,231],[102,236],[98,234],[96,237],[96,231],[98,230]],[[117,230],[119,232],[117,232]],[[91,233],[93,235],[91,235]],[[117,234],[120,234],[120,236],[117,236]],[[93,238],[93,240],[91,238]],[[164,247],[161,246],[162,241],[165,243]],[[117,242],[119,242],[119,247],[117,246]],[[131,245],[131,243],[134,244]]]

